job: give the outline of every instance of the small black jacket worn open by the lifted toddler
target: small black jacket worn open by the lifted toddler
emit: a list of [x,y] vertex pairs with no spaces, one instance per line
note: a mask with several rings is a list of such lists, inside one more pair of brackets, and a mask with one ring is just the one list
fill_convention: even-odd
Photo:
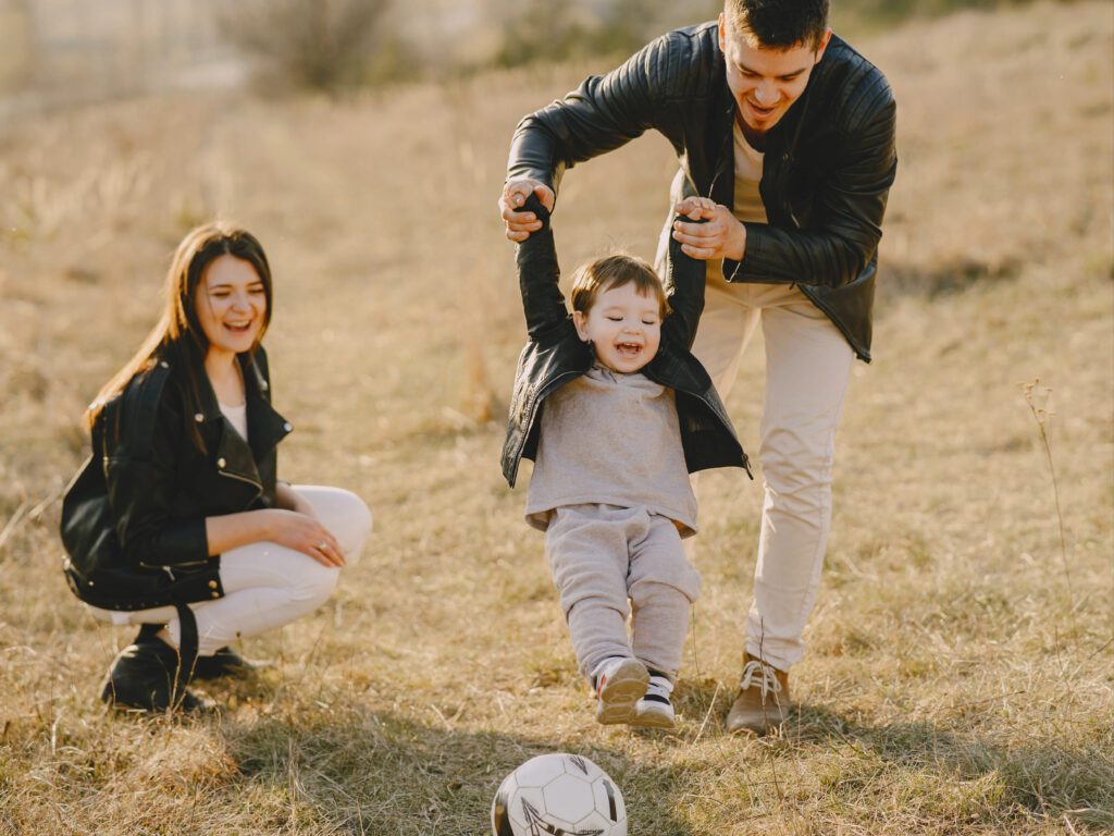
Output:
[[[594,360],[592,347],[576,332],[558,286],[560,269],[549,213],[534,195],[525,208],[537,214],[543,229],[519,244],[517,254],[529,341],[518,358],[502,446],[502,475],[511,487],[522,456],[534,459],[537,454],[545,399],[588,371]],[[664,279],[672,313],[662,323],[657,353],[642,373],[675,392],[681,444],[690,473],[710,467],[745,467],[750,473],[750,463],[712,378],[688,350],[704,310],[705,265],[685,255],[676,242],[672,250],[670,272]]]

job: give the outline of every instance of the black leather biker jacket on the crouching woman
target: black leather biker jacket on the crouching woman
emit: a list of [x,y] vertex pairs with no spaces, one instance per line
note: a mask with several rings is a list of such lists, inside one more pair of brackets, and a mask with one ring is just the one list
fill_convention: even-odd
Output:
[[156,359],[105,405],[92,455],[62,502],[66,576],[82,601],[147,610],[224,594],[205,517],[274,507],[275,447],[291,430],[271,407],[263,349],[237,359],[250,443],[221,412],[204,370],[203,404],[187,409],[180,372],[167,360]]

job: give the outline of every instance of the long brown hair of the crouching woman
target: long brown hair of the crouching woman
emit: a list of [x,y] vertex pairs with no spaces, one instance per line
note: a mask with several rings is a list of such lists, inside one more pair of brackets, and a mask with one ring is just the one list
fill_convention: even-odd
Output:
[[[251,264],[263,282],[267,307],[263,313],[263,325],[256,342],[252,346],[254,356],[260,340],[271,322],[272,288],[271,265],[263,246],[247,230],[216,221],[190,231],[178,244],[166,274],[164,285],[165,304],[158,324],[139,346],[139,350],[117,371],[89,406],[86,414],[88,426],[92,427],[105,408],[105,404],[124,391],[131,378],[159,360],[166,360],[178,370],[186,415],[202,411],[202,387],[205,375],[205,354],[208,339],[197,320],[195,298],[209,264],[222,255],[232,255]],[[193,420],[187,421],[190,435],[198,449],[205,449],[201,431]]]

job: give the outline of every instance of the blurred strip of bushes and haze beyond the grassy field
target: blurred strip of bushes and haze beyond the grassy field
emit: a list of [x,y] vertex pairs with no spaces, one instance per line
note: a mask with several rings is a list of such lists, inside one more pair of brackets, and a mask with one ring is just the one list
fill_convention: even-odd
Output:
[[[1013,0],[1014,3],[1020,0]],[[836,0],[840,31],[1010,0]],[[185,88],[344,87],[629,54],[715,0],[0,0],[0,118]]]

